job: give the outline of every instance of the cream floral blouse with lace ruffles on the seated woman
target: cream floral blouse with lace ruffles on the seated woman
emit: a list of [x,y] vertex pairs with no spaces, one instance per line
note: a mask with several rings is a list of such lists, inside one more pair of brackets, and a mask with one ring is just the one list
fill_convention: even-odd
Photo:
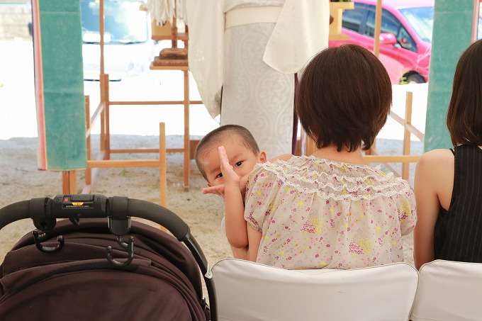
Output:
[[403,261],[417,215],[412,188],[392,173],[294,156],[254,167],[245,220],[262,232],[259,263],[355,269]]

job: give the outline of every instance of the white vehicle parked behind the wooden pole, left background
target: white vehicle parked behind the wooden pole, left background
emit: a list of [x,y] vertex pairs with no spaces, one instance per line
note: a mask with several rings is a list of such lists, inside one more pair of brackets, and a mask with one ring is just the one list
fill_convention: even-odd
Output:
[[[141,74],[155,56],[151,19],[140,10],[142,0],[104,0],[103,62],[109,80]],[[82,13],[82,58],[84,80],[99,80],[101,46],[99,0],[80,0]]]

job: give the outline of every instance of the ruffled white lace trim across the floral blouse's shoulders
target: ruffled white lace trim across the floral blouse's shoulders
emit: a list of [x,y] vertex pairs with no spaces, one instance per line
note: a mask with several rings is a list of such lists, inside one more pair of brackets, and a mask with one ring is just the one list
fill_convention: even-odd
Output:
[[265,175],[259,169],[274,174],[278,186],[292,186],[301,193],[316,193],[323,199],[359,201],[412,193],[407,181],[394,177],[393,173],[385,174],[380,166],[300,156],[288,161],[257,164],[252,180],[257,181],[259,175]]

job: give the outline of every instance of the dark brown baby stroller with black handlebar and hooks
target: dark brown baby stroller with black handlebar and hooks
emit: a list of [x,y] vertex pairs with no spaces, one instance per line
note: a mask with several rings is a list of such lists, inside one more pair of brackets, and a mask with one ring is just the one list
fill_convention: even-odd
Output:
[[170,210],[120,196],[57,195],[1,208],[0,230],[24,218],[36,229],[0,266],[0,320],[217,320],[206,257]]

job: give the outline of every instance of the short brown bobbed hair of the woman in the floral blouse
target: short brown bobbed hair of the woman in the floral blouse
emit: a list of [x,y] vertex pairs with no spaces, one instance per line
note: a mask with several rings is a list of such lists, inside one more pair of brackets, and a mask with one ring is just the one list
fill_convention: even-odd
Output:
[[[369,150],[392,103],[390,77],[380,60],[359,45],[330,47],[306,66],[296,111],[318,148]],[[363,145],[361,145],[363,142]]]

